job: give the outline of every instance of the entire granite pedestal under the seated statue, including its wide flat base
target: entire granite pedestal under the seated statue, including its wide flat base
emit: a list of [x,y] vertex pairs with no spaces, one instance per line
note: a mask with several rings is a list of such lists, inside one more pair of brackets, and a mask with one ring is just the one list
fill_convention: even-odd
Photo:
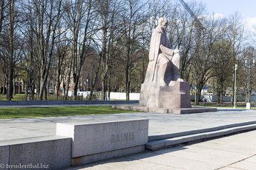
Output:
[[128,109],[141,112],[191,114],[216,112],[216,108],[191,107],[190,85],[186,81],[171,81],[169,86],[142,84],[140,101],[137,104],[114,105],[113,109]]

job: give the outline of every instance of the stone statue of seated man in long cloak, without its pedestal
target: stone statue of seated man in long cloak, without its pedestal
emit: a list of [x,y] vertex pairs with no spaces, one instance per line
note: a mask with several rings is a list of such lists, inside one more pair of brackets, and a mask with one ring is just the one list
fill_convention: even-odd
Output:
[[170,86],[171,81],[183,81],[180,78],[179,50],[171,50],[165,33],[167,26],[168,20],[160,18],[151,35],[149,63],[144,81],[146,84]]

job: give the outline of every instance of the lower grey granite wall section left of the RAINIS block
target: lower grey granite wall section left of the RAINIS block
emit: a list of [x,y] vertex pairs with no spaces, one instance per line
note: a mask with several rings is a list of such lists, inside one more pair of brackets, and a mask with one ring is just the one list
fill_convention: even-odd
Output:
[[[3,140],[0,148],[8,169],[64,169],[71,165],[71,138],[58,136]],[[1,160],[2,161],[2,160]]]

